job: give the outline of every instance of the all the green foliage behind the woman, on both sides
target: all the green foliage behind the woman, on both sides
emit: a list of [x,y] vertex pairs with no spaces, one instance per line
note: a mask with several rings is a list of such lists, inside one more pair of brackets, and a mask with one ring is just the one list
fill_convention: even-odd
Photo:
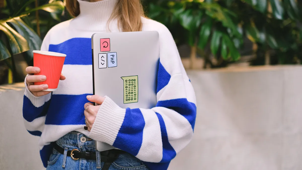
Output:
[[[251,54],[252,65],[302,59],[301,1],[143,0],[143,6],[149,18],[169,28],[178,46],[191,47],[191,59],[199,54],[210,67]],[[47,31],[71,18],[60,0],[0,0],[0,14],[0,84],[22,81],[16,57],[32,65],[32,51]]]

